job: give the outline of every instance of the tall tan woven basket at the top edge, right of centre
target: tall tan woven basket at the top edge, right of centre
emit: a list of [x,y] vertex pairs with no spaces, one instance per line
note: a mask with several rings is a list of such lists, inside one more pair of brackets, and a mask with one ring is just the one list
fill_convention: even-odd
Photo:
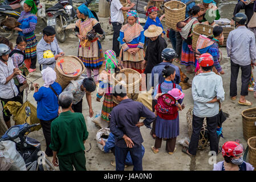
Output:
[[176,30],[176,25],[178,22],[185,19],[186,15],[186,5],[180,1],[169,1],[164,3],[165,9],[165,25]]

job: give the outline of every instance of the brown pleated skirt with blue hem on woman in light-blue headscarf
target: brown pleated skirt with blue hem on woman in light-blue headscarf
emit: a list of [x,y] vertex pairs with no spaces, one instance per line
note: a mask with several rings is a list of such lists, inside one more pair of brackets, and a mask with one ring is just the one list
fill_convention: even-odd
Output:
[[96,68],[100,68],[104,59],[104,55],[103,55],[103,50],[101,48],[100,42],[99,40],[97,40],[97,45],[98,45],[98,57],[82,57],[82,56],[78,56],[80,60],[83,61],[84,66],[86,68],[91,68],[91,69],[96,69]]

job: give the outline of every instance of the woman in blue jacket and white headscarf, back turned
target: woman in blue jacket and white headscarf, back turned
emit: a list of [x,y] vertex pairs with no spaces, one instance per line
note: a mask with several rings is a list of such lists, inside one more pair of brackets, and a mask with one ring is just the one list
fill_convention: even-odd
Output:
[[56,72],[47,67],[43,69],[42,77],[44,84],[39,88],[38,84],[35,86],[34,98],[37,101],[37,117],[43,129],[43,135],[46,139],[46,155],[52,156],[52,150],[49,148],[51,143],[51,122],[58,117],[58,95],[62,92],[62,87],[55,82]]

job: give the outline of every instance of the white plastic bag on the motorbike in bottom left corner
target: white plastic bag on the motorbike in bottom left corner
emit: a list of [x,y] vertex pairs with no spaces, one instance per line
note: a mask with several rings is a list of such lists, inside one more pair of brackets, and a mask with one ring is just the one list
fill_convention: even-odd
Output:
[[11,163],[11,169],[27,171],[25,161],[21,154],[16,150],[14,142],[10,140],[0,142],[0,157],[13,162]]

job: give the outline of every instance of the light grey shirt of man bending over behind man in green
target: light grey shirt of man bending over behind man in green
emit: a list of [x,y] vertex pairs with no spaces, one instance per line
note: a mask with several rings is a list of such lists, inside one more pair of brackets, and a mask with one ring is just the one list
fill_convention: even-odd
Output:
[[80,89],[80,86],[83,83],[82,79],[75,80],[73,82],[75,83],[75,85],[72,82],[70,82],[70,84],[68,84],[68,86],[63,90],[63,92],[71,92],[74,97],[73,104],[78,104],[78,102],[80,102],[83,99],[86,92]]

